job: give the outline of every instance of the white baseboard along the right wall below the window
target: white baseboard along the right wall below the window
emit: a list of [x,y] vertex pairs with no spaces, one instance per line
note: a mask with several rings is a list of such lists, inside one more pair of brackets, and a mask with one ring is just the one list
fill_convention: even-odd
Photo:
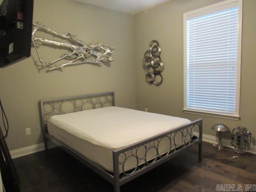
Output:
[[[198,133],[194,132],[194,135],[198,136]],[[203,134],[203,141],[208,142],[208,143],[218,144],[219,143],[219,138],[215,137],[215,136]],[[228,148],[234,149],[234,147],[232,147],[231,144],[230,144],[231,140],[222,138],[221,142],[222,142],[222,145],[224,145]],[[246,150],[246,152],[256,154],[256,145],[252,145],[250,150]]]

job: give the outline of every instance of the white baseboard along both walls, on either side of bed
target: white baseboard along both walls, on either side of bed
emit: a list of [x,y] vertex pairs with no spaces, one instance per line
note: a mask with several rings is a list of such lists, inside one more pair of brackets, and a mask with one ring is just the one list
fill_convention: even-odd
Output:
[[[194,132],[194,135],[198,136],[198,133]],[[203,141],[218,144],[218,138],[211,135],[203,134]],[[233,148],[230,144],[230,140],[228,139],[222,139],[222,144],[226,147]],[[48,148],[52,148],[54,146],[55,145],[52,142],[48,142]],[[24,148],[12,150],[10,151],[10,154],[12,158],[17,158],[17,157],[29,155],[32,153],[36,153],[39,151],[43,151],[43,150],[45,150],[44,143],[40,143],[40,144],[36,144],[36,145],[24,147]],[[256,154],[256,146],[255,145],[251,146],[250,150],[248,150],[247,152]]]

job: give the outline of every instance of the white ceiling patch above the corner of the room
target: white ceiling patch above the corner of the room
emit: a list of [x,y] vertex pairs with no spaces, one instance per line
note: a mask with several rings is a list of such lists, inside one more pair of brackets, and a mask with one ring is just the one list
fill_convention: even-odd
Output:
[[171,0],[76,0],[128,14],[137,14]]

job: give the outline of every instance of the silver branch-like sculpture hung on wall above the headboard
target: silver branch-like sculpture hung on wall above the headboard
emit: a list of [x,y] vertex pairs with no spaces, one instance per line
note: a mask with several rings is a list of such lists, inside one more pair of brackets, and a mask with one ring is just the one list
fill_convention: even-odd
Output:
[[[53,36],[57,36],[58,38],[62,38],[67,40],[68,42],[62,42],[57,40],[51,40],[47,38],[36,37],[35,33],[41,30],[43,32],[47,32],[52,34]],[[77,40],[76,35],[67,33],[67,34],[60,34],[53,31],[50,27],[44,26],[37,22],[36,24],[33,23],[32,29],[32,43],[36,48],[36,52],[38,54],[38,59],[42,64],[43,68],[48,68],[48,70],[54,69],[63,69],[64,66],[67,65],[75,65],[75,64],[83,64],[83,63],[92,63],[92,64],[104,64],[110,63],[113,61],[113,58],[110,57],[113,53],[114,47],[110,47],[107,45],[103,45],[101,43],[98,44],[90,44],[86,45],[84,42]],[[60,58],[48,62],[42,60],[39,55],[38,48],[42,44],[49,45],[49,46],[58,46],[62,49],[68,49],[70,52],[64,53]],[[64,64],[59,64],[61,60],[70,60]]]

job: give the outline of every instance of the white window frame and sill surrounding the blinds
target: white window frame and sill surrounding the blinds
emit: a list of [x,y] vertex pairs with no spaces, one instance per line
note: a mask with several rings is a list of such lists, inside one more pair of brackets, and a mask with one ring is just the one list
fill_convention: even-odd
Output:
[[[187,96],[188,96],[188,88],[187,88],[187,74],[188,74],[188,34],[187,34],[187,20],[192,18],[196,18],[199,16],[211,14],[214,12],[218,12],[224,9],[238,7],[238,44],[237,44],[237,74],[236,74],[236,111],[235,114],[227,114],[221,112],[210,112],[206,110],[193,110],[189,109],[187,105]],[[198,114],[204,116],[213,116],[219,118],[227,118],[232,120],[240,119],[240,83],[241,83],[241,58],[242,58],[242,10],[243,9],[243,0],[225,0],[216,4],[212,4],[210,6],[206,6],[203,8],[199,8],[197,10],[193,10],[190,12],[186,12],[183,14],[183,37],[184,37],[184,113],[190,114]]]

